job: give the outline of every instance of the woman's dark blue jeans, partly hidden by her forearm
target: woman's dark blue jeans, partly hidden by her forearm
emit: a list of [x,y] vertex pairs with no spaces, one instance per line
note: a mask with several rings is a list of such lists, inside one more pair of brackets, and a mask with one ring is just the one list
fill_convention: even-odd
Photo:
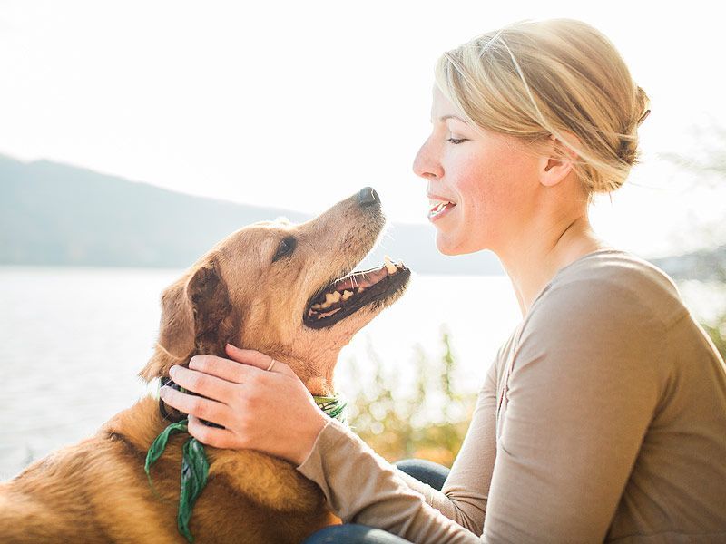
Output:
[[[427,483],[441,491],[448,476],[448,469],[435,462],[422,459],[406,459],[398,461],[396,466],[401,471],[413,476],[418,481]],[[302,544],[410,544],[408,540],[392,535],[381,529],[366,525],[346,523],[331,525],[310,535]]]

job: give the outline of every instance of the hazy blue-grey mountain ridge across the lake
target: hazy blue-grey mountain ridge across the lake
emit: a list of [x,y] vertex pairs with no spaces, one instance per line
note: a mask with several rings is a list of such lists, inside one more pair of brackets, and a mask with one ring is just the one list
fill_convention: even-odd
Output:
[[[188,267],[234,230],[280,216],[311,217],[0,155],[0,265]],[[378,266],[384,254],[423,274],[504,273],[489,251],[439,254],[427,225],[390,224],[363,266]]]

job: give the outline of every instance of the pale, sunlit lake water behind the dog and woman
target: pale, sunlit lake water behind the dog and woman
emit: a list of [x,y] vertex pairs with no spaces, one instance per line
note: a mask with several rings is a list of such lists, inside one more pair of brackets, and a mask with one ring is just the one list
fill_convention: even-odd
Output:
[[[136,374],[152,355],[162,289],[182,270],[0,267],[0,481],[92,434],[146,389]],[[708,316],[726,300],[693,282],[682,294]],[[521,316],[509,279],[417,276],[407,294],[344,348],[338,389],[353,396],[373,372],[394,392],[413,386],[417,354],[456,356],[454,384],[472,393]],[[360,376],[351,374],[355,359]],[[368,374],[368,376],[366,375]],[[408,379],[410,377],[410,379]]]

